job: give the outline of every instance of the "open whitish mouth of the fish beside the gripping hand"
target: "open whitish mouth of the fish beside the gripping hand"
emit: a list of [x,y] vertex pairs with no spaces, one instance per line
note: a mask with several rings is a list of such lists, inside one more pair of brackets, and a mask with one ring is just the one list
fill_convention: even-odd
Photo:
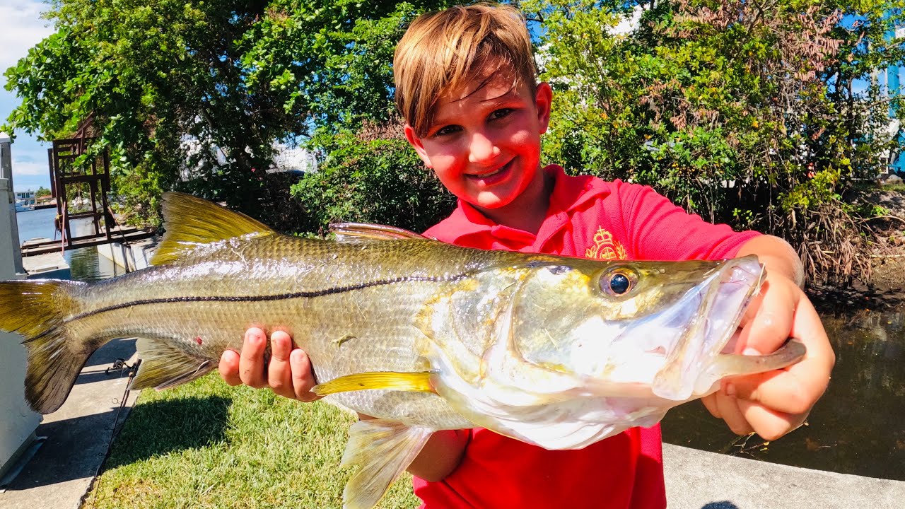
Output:
[[711,367],[728,348],[765,275],[755,255],[727,260],[682,297],[666,324],[680,334],[653,377],[653,394],[685,401],[713,391],[721,375]]

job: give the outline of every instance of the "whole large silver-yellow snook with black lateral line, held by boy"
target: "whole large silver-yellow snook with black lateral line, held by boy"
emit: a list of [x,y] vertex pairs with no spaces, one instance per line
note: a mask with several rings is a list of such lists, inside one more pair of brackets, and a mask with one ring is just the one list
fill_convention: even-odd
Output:
[[371,507],[433,431],[486,427],[549,449],[586,447],[723,377],[783,368],[723,353],[762,267],[600,262],[481,251],[381,226],[336,241],[278,235],[250,217],[164,197],[154,266],[97,283],[0,282],[0,330],[24,336],[25,396],[59,408],[90,354],[138,337],[133,389],[213,370],[243,331],[282,329],[308,352],[320,394],[374,416],[351,427],[362,466],[346,507]]

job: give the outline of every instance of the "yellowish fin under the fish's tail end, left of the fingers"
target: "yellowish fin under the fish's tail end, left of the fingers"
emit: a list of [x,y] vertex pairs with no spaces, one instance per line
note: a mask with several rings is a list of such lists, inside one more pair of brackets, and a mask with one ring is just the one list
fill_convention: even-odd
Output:
[[179,350],[167,341],[138,338],[136,342],[141,366],[129,389],[168,389],[205,376],[216,365]]

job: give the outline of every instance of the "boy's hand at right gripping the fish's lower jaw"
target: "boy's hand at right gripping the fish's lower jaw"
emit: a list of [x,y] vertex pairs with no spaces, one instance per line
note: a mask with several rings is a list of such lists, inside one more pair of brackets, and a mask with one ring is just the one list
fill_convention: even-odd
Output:
[[767,354],[788,338],[805,343],[805,359],[784,370],[724,379],[718,392],[702,399],[738,435],[754,431],[775,440],[800,427],[824,394],[835,363],[823,323],[805,293],[786,275],[767,271],[741,323],[739,353]]

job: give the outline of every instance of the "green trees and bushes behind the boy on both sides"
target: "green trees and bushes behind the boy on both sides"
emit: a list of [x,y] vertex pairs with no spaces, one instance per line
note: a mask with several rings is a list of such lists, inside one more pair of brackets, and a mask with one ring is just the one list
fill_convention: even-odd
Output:
[[[902,64],[905,0],[514,3],[555,90],[545,161],[782,235],[816,279],[870,271],[856,191],[900,149],[901,98],[872,78]],[[283,231],[423,229],[453,200],[401,136],[391,62],[411,20],[449,4],[59,0],[56,34],[5,74],[22,100],[5,129],[89,130],[136,221],[176,188]],[[275,143],[318,171],[268,174]]]

